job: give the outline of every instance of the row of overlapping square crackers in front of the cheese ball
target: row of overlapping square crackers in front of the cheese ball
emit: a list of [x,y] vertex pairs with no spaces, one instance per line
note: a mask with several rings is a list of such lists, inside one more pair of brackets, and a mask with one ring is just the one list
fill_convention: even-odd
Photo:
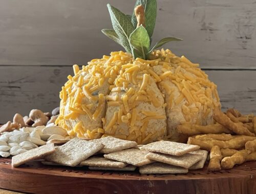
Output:
[[53,143],[12,157],[14,167],[44,158],[44,164],[88,166],[89,169],[134,171],[141,174],[179,174],[204,166],[207,151],[184,143],[157,141],[138,146],[135,141],[104,137],[71,139],[59,147]]

